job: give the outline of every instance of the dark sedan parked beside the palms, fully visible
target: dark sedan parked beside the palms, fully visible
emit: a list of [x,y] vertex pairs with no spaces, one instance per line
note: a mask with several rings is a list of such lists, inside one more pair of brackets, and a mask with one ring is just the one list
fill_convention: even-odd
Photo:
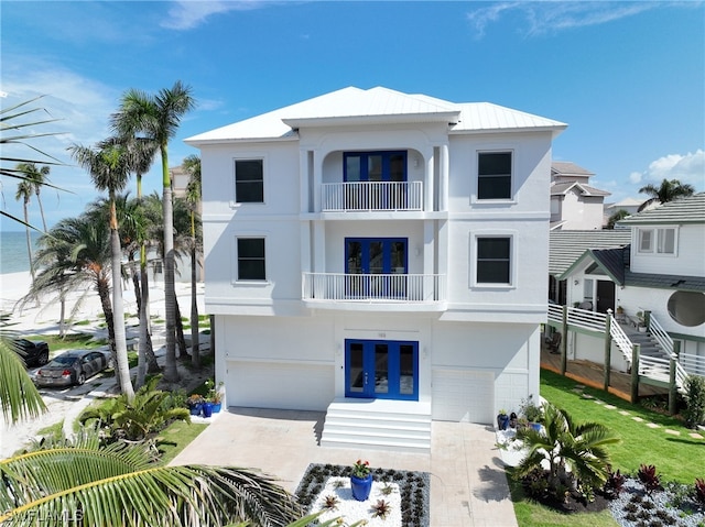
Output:
[[37,386],[70,386],[84,384],[87,378],[108,367],[110,360],[100,351],[73,350],[56,355],[34,376]]

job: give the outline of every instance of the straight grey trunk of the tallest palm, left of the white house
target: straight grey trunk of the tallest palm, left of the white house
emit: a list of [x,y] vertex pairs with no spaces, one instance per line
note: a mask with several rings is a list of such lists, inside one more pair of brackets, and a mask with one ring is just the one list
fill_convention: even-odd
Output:
[[166,145],[162,145],[162,174],[164,209],[164,311],[166,316],[166,356],[164,365],[164,381],[178,381],[176,369],[176,290],[174,287],[174,206],[172,201],[172,185],[169,175],[169,156]]

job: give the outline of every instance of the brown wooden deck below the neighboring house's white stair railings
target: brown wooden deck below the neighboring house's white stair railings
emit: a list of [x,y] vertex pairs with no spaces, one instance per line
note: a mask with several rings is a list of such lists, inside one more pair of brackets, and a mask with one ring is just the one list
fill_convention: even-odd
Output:
[[[541,349],[541,367],[561,374],[561,354],[554,354],[549,351],[544,344]],[[576,382],[603,389],[604,372],[603,365],[589,361],[571,361],[568,360],[566,376]],[[616,372],[612,370],[610,374],[609,393],[625,400],[631,399],[631,375],[628,373]],[[668,395],[669,391],[639,383],[639,397],[650,395]]]

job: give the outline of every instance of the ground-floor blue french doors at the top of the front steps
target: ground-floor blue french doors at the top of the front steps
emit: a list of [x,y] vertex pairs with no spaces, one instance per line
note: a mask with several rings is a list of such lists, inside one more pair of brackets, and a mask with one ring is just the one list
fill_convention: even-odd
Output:
[[419,342],[346,339],[345,396],[419,400]]

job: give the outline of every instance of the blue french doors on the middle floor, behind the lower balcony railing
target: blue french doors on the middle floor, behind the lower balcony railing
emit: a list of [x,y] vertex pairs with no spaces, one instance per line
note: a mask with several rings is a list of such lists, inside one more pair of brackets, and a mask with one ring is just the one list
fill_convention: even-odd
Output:
[[408,245],[405,238],[346,238],[346,294],[354,298],[404,299]]

